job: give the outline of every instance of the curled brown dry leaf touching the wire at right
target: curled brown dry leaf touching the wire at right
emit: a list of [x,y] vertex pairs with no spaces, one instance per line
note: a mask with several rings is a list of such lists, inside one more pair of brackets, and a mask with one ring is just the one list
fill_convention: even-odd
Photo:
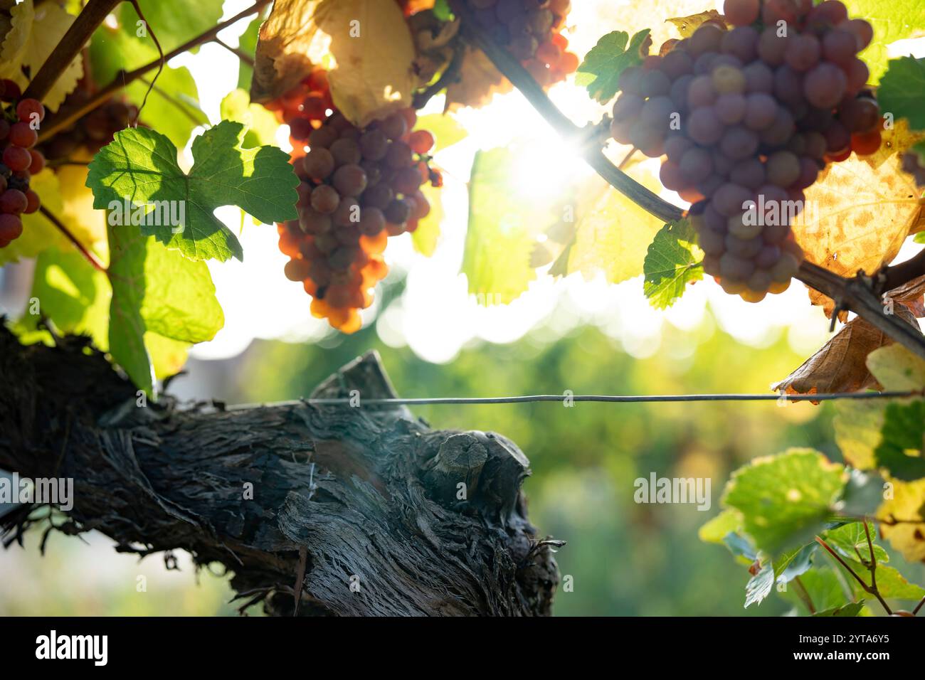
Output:
[[[915,316],[904,304],[897,305],[894,313],[914,328],[919,328]],[[771,385],[771,389],[784,389],[787,394],[818,394],[877,387],[877,380],[870,374],[865,362],[870,352],[890,344],[893,340],[888,335],[857,316],[796,371]]]

